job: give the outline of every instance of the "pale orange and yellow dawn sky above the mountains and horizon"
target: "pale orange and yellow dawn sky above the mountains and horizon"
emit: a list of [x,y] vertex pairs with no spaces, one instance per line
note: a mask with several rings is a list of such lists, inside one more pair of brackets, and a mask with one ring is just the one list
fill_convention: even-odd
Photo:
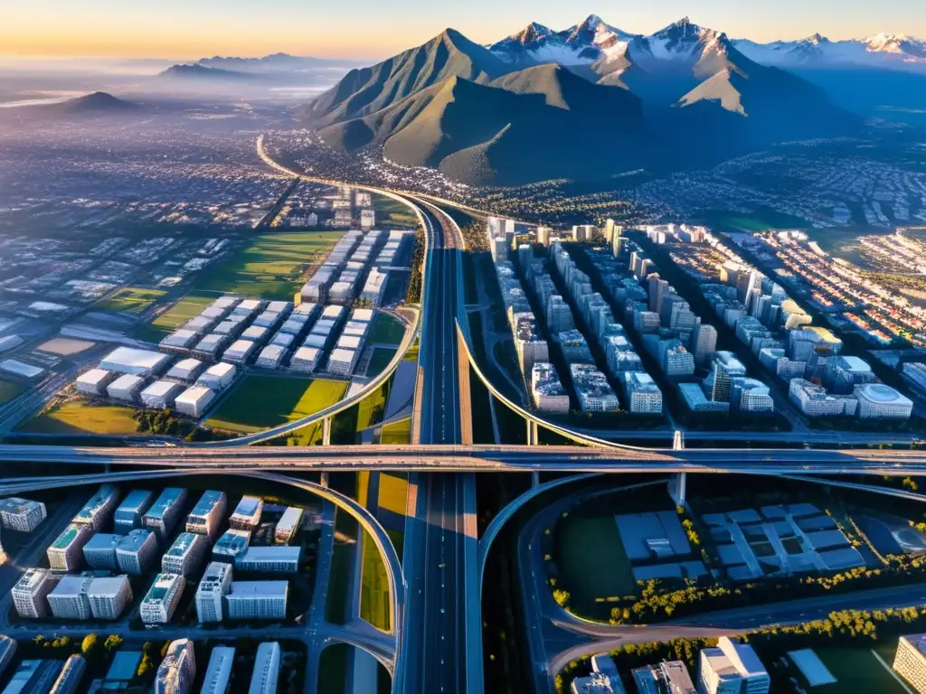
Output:
[[2,0],[0,54],[190,59],[211,55],[384,57],[446,27],[487,43],[529,21],[565,29],[594,13],[649,33],[685,15],[732,37],[926,37],[924,0]]

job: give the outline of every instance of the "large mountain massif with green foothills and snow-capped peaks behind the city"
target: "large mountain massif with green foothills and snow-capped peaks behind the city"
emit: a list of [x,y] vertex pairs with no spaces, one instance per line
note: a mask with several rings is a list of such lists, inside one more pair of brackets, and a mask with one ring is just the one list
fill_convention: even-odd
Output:
[[334,147],[379,144],[398,163],[479,185],[693,166],[861,126],[720,31],[685,18],[641,36],[594,15],[490,46],[448,29],[351,70],[297,116]]

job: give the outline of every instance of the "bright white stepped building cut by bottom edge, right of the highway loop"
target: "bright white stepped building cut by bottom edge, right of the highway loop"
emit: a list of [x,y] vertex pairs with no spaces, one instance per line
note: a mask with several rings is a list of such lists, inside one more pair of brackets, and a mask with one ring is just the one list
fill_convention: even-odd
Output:
[[727,637],[703,649],[698,663],[698,694],[768,694],[769,673],[752,646]]

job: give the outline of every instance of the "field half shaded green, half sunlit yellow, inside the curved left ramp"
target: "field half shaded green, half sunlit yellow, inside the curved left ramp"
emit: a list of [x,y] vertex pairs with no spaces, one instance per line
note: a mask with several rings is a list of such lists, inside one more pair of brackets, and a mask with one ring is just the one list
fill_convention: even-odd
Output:
[[246,376],[206,421],[207,427],[250,434],[337,403],[347,383],[319,378]]

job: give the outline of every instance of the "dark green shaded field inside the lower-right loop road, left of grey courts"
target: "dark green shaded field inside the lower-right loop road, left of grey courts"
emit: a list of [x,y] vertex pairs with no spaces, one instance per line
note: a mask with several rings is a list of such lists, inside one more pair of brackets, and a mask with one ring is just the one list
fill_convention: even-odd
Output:
[[610,515],[561,518],[554,530],[559,584],[569,590],[579,614],[607,618],[607,602],[637,592],[631,563],[620,541],[618,524]]

